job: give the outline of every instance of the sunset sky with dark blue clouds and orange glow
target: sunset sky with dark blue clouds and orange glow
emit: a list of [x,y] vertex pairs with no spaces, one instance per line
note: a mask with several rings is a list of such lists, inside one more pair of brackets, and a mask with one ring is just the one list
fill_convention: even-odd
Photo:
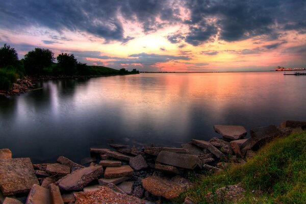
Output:
[[3,0],[0,43],[139,71],[306,67],[306,1]]

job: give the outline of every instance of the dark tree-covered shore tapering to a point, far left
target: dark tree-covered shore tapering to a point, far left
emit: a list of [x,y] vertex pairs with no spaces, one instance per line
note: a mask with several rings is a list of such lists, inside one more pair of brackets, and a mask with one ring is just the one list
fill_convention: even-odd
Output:
[[[57,63],[55,63],[57,59]],[[35,48],[19,60],[15,48],[4,44],[0,48],[0,90],[8,90],[12,83],[24,75],[39,77],[40,75],[117,75],[139,73],[133,69],[117,70],[104,66],[88,66],[78,62],[73,54],[62,53],[56,58],[52,50]]]

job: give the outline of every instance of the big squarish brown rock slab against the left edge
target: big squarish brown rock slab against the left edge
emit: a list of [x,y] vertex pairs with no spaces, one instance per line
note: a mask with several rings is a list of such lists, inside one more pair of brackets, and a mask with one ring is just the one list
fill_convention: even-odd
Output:
[[30,158],[0,160],[0,189],[5,196],[28,193],[39,184]]

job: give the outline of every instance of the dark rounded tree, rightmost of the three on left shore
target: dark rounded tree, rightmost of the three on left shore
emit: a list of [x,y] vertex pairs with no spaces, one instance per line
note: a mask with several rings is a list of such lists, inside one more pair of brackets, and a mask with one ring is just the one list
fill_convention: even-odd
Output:
[[65,74],[75,73],[78,61],[74,58],[73,54],[69,55],[67,53],[62,53],[56,59],[58,61],[58,65],[62,68]]

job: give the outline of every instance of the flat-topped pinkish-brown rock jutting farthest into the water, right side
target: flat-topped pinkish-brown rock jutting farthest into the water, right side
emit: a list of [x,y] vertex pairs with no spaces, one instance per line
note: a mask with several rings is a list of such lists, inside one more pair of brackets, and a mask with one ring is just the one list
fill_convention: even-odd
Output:
[[228,140],[238,140],[246,136],[246,130],[241,125],[214,125],[214,130]]

